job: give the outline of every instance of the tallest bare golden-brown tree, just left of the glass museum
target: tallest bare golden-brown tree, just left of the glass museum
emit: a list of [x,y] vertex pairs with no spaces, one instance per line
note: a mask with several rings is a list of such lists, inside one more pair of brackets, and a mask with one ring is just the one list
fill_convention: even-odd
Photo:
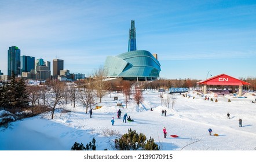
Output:
[[107,72],[104,68],[99,68],[94,72],[94,82],[93,87],[97,91],[97,97],[101,98],[108,92],[110,83],[106,80],[107,79]]

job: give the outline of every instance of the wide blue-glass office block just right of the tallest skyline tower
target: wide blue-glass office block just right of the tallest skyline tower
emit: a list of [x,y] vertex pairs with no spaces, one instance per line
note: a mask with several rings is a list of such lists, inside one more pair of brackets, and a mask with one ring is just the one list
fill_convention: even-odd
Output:
[[30,72],[35,69],[35,57],[21,56],[20,57],[20,68],[22,72]]

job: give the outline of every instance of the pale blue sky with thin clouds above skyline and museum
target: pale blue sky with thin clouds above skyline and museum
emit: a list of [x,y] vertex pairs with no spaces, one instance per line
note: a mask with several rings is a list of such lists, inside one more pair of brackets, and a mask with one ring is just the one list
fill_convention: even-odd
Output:
[[7,51],[64,60],[89,75],[127,51],[135,20],[137,50],[158,54],[160,78],[256,77],[256,1],[0,0],[0,69]]

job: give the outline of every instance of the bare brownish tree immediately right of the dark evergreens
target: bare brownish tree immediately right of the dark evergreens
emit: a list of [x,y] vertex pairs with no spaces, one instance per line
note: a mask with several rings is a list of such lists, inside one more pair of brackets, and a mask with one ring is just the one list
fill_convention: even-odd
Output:
[[40,87],[39,86],[27,86],[28,97],[32,106],[32,113],[34,113],[34,106],[36,101],[40,98]]

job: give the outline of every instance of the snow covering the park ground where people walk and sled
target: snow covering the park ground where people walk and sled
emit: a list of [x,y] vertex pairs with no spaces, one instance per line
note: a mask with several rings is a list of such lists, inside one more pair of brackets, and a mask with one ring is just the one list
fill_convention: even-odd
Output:
[[[233,94],[224,97],[207,94],[213,101],[217,98],[218,102],[205,101],[205,96],[195,91],[190,91],[187,97],[172,94],[176,98],[174,109],[171,104],[170,108],[161,104],[159,95],[158,90],[145,90],[140,106],[129,100],[126,108],[122,93],[107,94],[98,104],[103,107],[94,109],[92,118],[76,102],[75,108],[71,104],[65,106],[71,112],[57,111],[54,119],[45,113],[13,121],[7,128],[0,127],[0,150],[70,150],[75,142],[86,145],[93,137],[97,150],[114,150],[113,140],[127,133],[129,128],[142,132],[147,139],[154,138],[161,150],[255,149],[256,104],[251,102],[255,100],[253,93],[244,94],[246,98],[237,98]],[[167,92],[164,97],[166,95]],[[118,101],[114,101],[114,97],[118,97]],[[123,108],[117,106],[117,102],[122,102]],[[151,108],[153,111],[150,111]],[[117,119],[119,109],[122,111],[121,119]],[[167,110],[167,116],[161,115],[162,109]],[[231,119],[226,116],[228,112]],[[125,113],[134,122],[123,123]],[[112,117],[115,118],[114,126],[111,124]],[[239,118],[243,120],[243,127],[239,127]],[[166,127],[167,138],[163,138],[163,127]],[[210,136],[209,128],[219,136]],[[173,134],[179,137],[170,137]]]

